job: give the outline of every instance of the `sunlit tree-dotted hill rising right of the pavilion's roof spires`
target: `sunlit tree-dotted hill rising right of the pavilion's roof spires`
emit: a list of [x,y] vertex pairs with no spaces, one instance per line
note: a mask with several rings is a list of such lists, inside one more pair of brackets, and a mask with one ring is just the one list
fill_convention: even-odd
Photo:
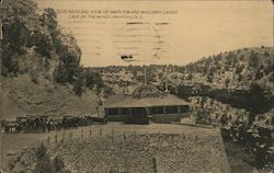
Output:
[[[183,83],[203,83],[218,89],[248,90],[252,83],[274,90],[274,48],[243,48],[202,58],[173,71]],[[179,82],[179,81],[178,81]],[[180,84],[180,83],[176,83]]]

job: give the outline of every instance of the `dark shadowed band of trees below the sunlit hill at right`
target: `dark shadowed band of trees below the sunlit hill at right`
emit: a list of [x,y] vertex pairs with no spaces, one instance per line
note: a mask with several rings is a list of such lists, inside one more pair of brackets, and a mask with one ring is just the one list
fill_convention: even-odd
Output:
[[184,85],[170,88],[179,97],[209,96],[237,108],[244,108],[253,114],[262,114],[273,108],[274,95],[269,90],[253,83],[249,90],[212,89],[207,85]]

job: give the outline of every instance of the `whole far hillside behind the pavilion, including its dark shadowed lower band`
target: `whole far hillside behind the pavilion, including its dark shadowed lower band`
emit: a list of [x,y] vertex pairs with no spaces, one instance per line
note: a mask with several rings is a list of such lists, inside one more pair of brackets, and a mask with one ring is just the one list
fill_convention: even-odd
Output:
[[255,114],[274,106],[273,47],[220,53],[186,66],[112,66],[96,70],[114,91],[121,93],[144,82],[145,68],[150,83],[164,90],[168,79],[170,91],[180,97],[210,96]]

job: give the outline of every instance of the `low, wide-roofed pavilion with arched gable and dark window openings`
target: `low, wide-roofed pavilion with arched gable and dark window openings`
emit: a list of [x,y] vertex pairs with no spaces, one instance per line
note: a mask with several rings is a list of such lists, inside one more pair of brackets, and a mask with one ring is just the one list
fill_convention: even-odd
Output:
[[189,103],[170,94],[167,86],[165,91],[161,92],[156,86],[147,84],[145,77],[145,83],[135,89],[132,95],[110,96],[104,111],[110,122],[171,123],[189,116]]

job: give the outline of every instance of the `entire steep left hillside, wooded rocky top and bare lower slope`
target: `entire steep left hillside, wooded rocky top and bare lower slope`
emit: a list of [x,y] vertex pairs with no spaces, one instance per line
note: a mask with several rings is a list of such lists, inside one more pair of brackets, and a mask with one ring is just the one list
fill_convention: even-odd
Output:
[[80,66],[77,39],[55,10],[38,9],[33,0],[3,1],[0,10],[1,118],[94,114],[104,84]]

